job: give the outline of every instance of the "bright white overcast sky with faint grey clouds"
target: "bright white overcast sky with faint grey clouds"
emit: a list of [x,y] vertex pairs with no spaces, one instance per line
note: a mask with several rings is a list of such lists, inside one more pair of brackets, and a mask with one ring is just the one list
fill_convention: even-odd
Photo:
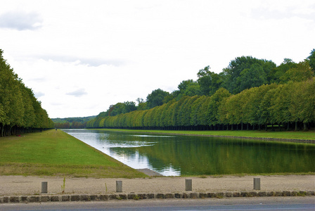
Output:
[[1,0],[0,49],[49,117],[98,115],[172,92],[238,56],[300,62],[314,0]]

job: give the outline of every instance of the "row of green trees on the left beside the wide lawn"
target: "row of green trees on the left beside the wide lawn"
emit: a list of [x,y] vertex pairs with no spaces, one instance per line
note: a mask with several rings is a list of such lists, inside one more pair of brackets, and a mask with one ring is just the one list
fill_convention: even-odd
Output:
[[53,128],[53,121],[41,108],[32,89],[6,63],[0,49],[0,136]]

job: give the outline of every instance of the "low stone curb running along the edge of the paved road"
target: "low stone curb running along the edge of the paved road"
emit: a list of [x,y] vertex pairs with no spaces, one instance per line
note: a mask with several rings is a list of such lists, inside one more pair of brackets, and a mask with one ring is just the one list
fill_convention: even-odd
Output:
[[250,191],[217,193],[111,193],[111,194],[72,194],[37,196],[0,196],[1,203],[45,203],[69,201],[143,200],[166,198],[235,198],[266,196],[315,196],[315,191]]

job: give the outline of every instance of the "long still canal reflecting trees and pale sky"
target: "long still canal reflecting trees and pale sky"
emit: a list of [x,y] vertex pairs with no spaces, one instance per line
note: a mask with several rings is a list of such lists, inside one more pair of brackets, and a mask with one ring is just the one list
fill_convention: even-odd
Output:
[[135,169],[165,176],[315,172],[315,144],[65,129]]

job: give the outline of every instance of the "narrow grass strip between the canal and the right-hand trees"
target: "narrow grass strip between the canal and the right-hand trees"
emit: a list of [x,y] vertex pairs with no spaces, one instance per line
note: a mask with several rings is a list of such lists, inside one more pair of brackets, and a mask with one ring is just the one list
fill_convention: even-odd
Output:
[[101,129],[116,132],[141,132],[153,134],[179,134],[191,136],[230,136],[255,139],[297,139],[315,140],[315,132],[293,132],[293,131],[258,131],[258,130],[221,130],[221,131],[179,131],[179,130],[141,130],[141,129]]

